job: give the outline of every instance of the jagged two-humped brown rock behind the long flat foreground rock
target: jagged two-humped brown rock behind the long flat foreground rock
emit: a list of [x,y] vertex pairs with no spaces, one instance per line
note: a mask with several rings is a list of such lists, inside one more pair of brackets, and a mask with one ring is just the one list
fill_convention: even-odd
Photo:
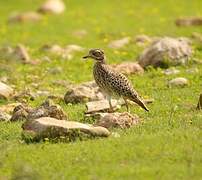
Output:
[[30,108],[19,105],[13,110],[11,121],[33,120],[40,117],[52,117],[56,119],[66,120],[67,116],[59,105],[54,104],[50,100],[46,100],[39,107]]

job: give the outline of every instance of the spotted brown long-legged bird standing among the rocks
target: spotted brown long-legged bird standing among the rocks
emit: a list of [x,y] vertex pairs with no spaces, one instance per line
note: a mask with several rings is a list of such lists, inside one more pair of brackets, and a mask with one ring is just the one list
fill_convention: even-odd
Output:
[[137,103],[141,108],[149,111],[127,77],[106,64],[106,56],[103,50],[98,48],[90,49],[88,55],[83,58],[91,58],[95,60],[93,76],[98,87],[103,94],[106,95],[111,112],[113,112],[113,106],[111,103],[112,97],[123,98],[128,112],[128,100]]

